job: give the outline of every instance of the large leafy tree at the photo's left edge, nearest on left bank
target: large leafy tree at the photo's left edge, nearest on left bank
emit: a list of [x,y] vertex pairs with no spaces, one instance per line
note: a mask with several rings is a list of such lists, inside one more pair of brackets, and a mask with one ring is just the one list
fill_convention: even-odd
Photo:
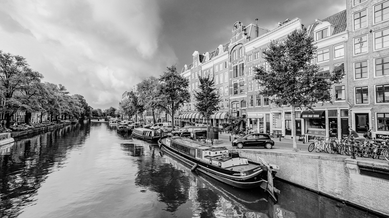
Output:
[[6,115],[6,127],[11,116],[18,110],[32,110],[30,100],[37,94],[33,87],[43,76],[29,67],[26,59],[0,50],[0,98],[5,98],[5,106],[0,112]]

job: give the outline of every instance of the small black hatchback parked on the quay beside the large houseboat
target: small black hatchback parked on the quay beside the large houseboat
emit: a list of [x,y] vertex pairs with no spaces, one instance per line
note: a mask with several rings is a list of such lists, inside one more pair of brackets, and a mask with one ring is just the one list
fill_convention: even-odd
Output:
[[265,147],[271,149],[274,146],[274,141],[268,134],[251,133],[243,138],[236,138],[232,140],[232,146],[241,149],[243,147]]

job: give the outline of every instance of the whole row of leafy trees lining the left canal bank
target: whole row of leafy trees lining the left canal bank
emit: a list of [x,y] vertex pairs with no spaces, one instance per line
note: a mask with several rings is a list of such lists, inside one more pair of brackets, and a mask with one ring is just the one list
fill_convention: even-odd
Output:
[[[49,113],[51,119],[89,117],[92,108],[80,94],[70,95],[66,87],[42,82],[43,76],[30,68],[26,59],[0,50],[0,112],[5,114],[6,127],[17,111],[25,111],[24,123],[31,114]],[[40,120],[41,121],[41,120]]]

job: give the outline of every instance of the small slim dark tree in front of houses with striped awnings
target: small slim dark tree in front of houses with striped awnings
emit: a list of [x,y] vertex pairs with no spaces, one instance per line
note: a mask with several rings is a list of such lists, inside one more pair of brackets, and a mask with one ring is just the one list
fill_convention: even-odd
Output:
[[209,117],[219,110],[220,98],[214,88],[213,78],[212,80],[207,77],[200,77],[200,91],[195,91],[195,98],[197,103],[197,110],[207,119],[209,124]]

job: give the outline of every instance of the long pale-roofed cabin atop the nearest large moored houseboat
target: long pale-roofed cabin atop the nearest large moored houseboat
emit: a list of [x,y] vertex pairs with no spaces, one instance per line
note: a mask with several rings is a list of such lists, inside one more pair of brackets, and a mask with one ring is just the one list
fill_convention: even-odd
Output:
[[204,144],[193,142],[181,137],[166,138],[166,145],[193,158],[221,168],[248,165],[247,158],[241,158],[239,153],[228,151],[225,147],[204,146]]

